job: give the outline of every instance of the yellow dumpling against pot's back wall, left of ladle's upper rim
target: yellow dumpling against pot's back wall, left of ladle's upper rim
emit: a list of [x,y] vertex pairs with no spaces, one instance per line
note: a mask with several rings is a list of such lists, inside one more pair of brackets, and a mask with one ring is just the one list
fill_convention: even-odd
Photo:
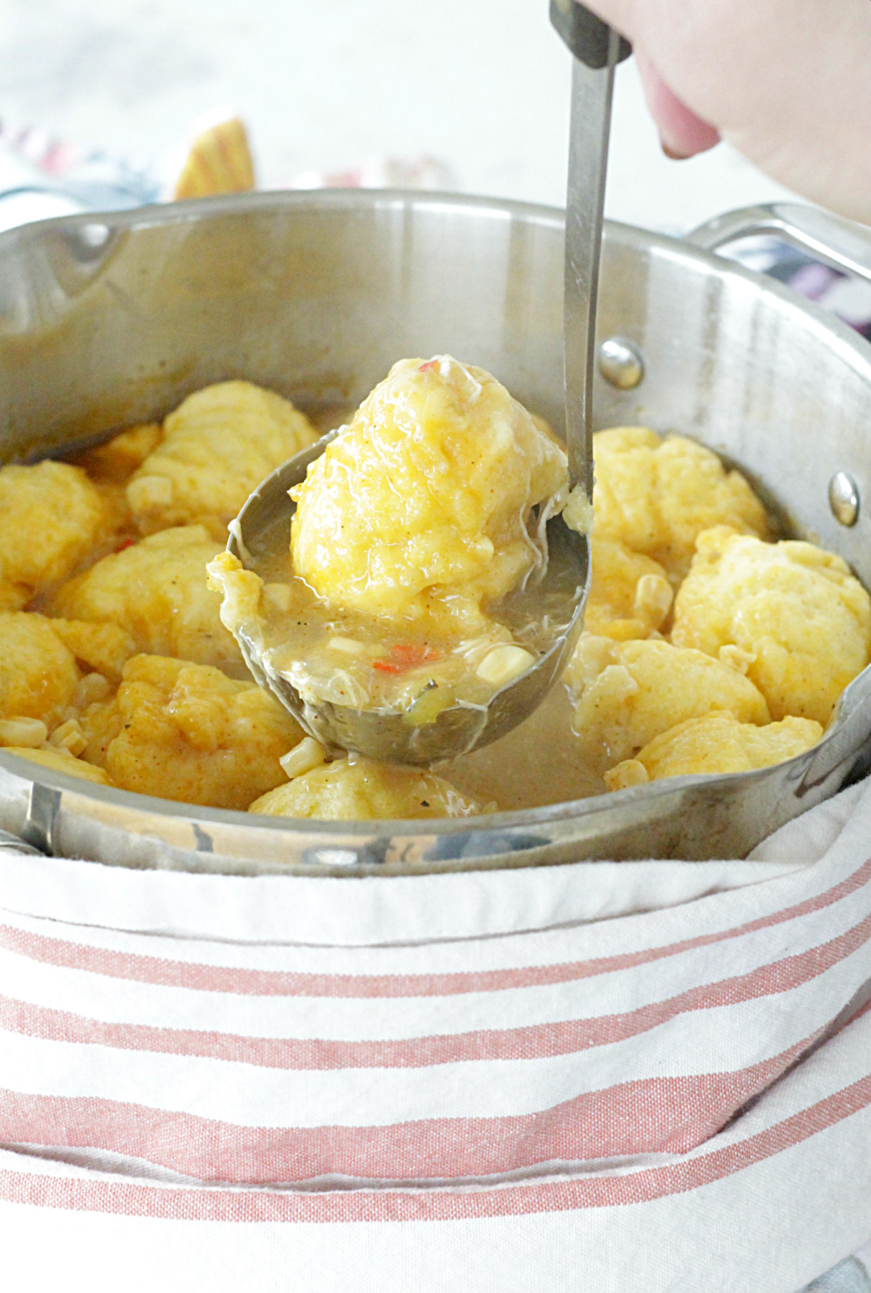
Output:
[[202,521],[217,533],[269,472],[317,432],[289,400],[251,381],[220,381],[179,405],[133,472],[127,499],[150,533]]

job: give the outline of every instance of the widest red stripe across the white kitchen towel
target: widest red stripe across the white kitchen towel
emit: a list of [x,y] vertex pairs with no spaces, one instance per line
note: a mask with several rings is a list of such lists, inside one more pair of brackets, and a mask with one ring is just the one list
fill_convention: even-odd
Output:
[[554,1160],[686,1153],[721,1130],[814,1041],[815,1034],[735,1072],[621,1082],[536,1113],[386,1126],[242,1126],[97,1096],[0,1091],[0,1140],[107,1149],[198,1181],[241,1184],[331,1174],[450,1181]]

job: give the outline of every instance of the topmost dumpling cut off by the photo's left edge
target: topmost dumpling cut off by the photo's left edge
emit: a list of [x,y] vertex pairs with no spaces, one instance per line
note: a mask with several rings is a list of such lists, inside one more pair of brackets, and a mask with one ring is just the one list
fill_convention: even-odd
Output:
[[16,610],[63,579],[107,530],[97,486],[79,467],[0,467],[0,608]]

